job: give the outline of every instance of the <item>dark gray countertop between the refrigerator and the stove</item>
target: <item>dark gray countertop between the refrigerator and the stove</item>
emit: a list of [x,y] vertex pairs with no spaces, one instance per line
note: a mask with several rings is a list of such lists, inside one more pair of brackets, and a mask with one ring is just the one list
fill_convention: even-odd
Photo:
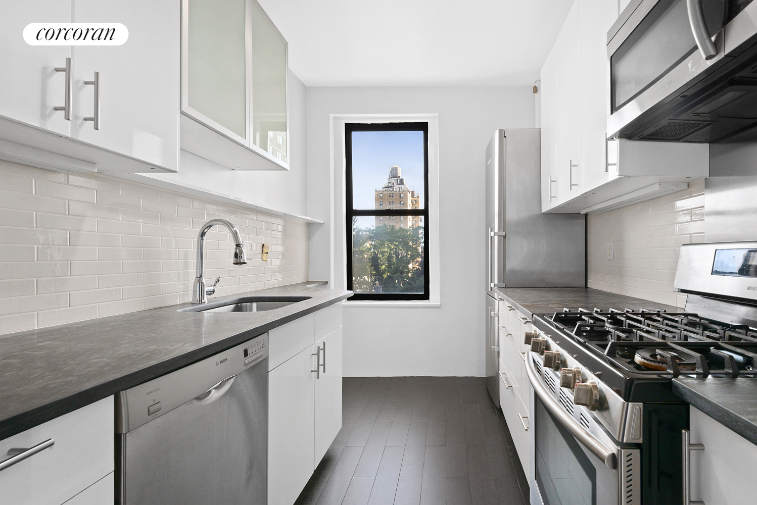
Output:
[[668,312],[681,311],[681,308],[665,305],[664,303],[649,302],[631,296],[616,295],[606,291],[583,287],[506,287],[497,288],[500,293],[515,308],[529,317],[534,314],[553,314],[562,312],[563,308],[576,309],[579,307],[592,310],[593,308],[610,307],[623,310],[624,308],[662,308]]

